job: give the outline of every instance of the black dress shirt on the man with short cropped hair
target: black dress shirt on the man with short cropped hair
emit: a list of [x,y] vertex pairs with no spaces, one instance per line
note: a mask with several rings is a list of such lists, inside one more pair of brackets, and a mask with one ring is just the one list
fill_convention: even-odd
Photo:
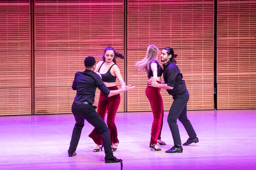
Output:
[[97,87],[105,96],[109,95],[110,90],[94,71],[86,69],[83,72],[76,72],[72,85],[73,90],[76,90],[74,102],[89,102],[93,104]]

